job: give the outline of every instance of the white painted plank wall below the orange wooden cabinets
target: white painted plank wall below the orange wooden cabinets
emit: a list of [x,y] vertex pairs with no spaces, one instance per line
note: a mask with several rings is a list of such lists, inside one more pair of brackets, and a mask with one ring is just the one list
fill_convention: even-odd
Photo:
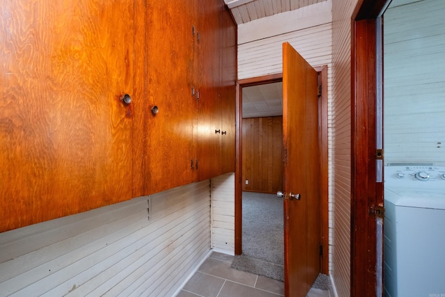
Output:
[[0,296],[173,296],[211,249],[210,197],[207,180],[1,233]]

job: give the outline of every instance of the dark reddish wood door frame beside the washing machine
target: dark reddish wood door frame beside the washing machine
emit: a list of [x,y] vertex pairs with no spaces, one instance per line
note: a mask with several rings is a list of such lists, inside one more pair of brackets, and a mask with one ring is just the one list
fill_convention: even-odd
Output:
[[[383,182],[376,180],[376,133],[382,127],[379,128],[376,115],[382,112],[378,109],[378,94],[383,85],[382,14],[390,2],[359,1],[352,15],[350,296],[383,293],[376,291],[376,274],[382,267],[376,267],[375,208],[383,206]],[[382,288],[380,284],[379,289]]]

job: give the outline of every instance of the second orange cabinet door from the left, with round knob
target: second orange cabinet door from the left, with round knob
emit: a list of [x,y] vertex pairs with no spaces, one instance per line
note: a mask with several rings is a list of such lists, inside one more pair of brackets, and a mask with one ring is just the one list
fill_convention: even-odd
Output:
[[[145,195],[193,182],[193,128],[196,99],[191,96],[197,66],[197,3],[147,1],[147,95],[145,104],[159,112],[146,117]],[[175,40],[175,42],[163,42]],[[165,71],[167,70],[167,71]],[[175,172],[174,175],[171,172]]]

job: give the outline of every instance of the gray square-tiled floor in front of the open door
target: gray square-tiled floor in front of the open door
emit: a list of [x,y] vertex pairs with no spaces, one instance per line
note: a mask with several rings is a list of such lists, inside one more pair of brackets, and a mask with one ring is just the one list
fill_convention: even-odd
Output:
[[[284,296],[284,282],[231,268],[233,256],[212,252],[177,297],[277,297]],[[311,289],[307,297],[330,297],[328,291]]]

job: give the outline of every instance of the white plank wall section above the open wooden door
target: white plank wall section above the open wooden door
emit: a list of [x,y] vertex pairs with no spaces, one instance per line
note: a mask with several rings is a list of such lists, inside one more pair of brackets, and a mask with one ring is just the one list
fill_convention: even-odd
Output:
[[331,1],[325,1],[240,24],[238,79],[281,73],[282,43],[286,41],[313,67],[327,65],[330,78],[331,6]]

